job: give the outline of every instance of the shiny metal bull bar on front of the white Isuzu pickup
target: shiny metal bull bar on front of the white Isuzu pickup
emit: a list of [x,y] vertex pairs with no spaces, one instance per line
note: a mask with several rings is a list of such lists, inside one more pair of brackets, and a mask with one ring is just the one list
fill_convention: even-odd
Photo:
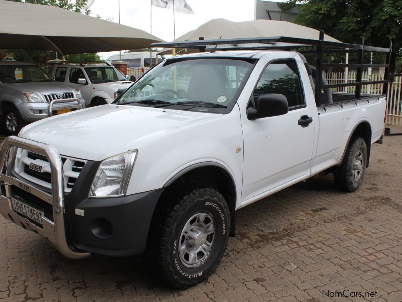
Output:
[[[15,178],[11,175],[11,167],[8,169],[10,159],[10,150],[12,147],[22,148],[36,154],[45,156],[50,164],[50,174],[52,181],[51,195],[43,192],[25,181]],[[7,137],[0,146],[0,185],[5,187],[5,195],[0,193],[0,213],[8,220],[38,233],[47,238],[49,242],[64,256],[71,259],[82,259],[90,256],[90,253],[79,253],[73,251],[67,243],[65,224],[64,224],[64,181],[63,181],[63,163],[56,148],[33,141],[30,139],[10,136]],[[11,204],[11,186],[17,186],[41,200],[52,205],[53,221],[42,216],[43,227],[32,223],[27,218],[17,214]]]

